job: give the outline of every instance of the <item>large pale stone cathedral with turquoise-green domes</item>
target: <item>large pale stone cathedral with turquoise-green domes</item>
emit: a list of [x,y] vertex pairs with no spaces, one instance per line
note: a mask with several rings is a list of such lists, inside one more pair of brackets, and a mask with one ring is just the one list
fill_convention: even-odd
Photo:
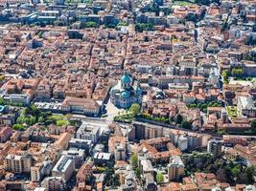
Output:
[[116,107],[127,109],[133,103],[141,103],[142,90],[138,82],[125,73],[118,84],[111,89],[110,100]]

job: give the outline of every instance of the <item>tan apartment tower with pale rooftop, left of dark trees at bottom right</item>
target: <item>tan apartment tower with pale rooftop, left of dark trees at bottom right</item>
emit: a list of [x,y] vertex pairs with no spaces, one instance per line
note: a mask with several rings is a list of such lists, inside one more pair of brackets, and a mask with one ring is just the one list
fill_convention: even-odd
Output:
[[184,175],[184,164],[178,156],[170,159],[168,164],[168,178],[169,180],[179,180]]

